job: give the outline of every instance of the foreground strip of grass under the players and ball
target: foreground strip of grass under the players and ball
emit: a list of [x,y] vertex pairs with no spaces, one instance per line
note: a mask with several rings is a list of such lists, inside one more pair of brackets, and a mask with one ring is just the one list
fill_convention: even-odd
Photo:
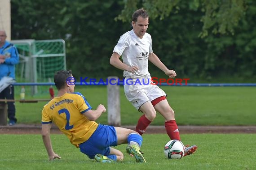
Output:
[[[146,164],[137,163],[125,153],[126,144],[116,148],[124,161],[99,163],[90,160],[70,144],[64,135],[51,135],[53,149],[62,158],[49,162],[40,135],[0,135],[1,170],[254,170],[256,134],[187,134],[184,144],[197,144],[193,155],[168,160],[163,147],[166,134],[143,135]],[[155,142],[157,141],[157,142]]]

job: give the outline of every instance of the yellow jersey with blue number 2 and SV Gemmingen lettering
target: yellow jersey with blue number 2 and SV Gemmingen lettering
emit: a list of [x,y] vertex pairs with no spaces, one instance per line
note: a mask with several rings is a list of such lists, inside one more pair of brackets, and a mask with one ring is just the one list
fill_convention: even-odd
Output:
[[44,105],[42,124],[54,122],[69,138],[71,144],[81,144],[88,140],[98,127],[98,123],[88,120],[83,115],[91,109],[83,94],[65,93]]

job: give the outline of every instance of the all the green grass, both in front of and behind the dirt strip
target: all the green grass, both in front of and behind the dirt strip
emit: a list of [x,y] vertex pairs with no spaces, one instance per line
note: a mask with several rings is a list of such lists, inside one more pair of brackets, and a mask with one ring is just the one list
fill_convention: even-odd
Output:
[[[161,87],[176,112],[178,125],[255,125],[255,87]],[[15,87],[16,99],[19,87]],[[29,91],[29,90],[27,90]],[[26,98],[49,98],[48,88],[40,94]],[[106,87],[76,86],[88,102],[96,108],[107,107]],[[55,89],[55,93],[57,93]],[[120,88],[122,125],[135,125],[141,113],[127,101]],[[45,102],[16,102],[18,123],[40,123]],[[107,124],[107,114],[97,121]],[[163,125],[158,115],[152,123]],[[146,164],[135,162],[124,154],[123,162],[98,163],[79,152],[64,135],[51,135],[53,149],[62,158],[49,162],[40,135],[0,135],[0,170],[254,170],[256,134],[181,134],[184,144],[197,144],[193,155],[180,160],[168,160],[163,147],[169,138],[166,134],[145,134],[142,151]],[[116,148],[125,153],[126,144]]]

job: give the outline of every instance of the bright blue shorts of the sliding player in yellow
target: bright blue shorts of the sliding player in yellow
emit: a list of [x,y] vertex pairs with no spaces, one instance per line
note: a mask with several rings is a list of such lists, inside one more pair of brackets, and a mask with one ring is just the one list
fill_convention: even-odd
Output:
[[114,126],[99,124],[93,135],[84,143],[79,144],[80,151],[90,159],[94,159],[97,153],[109,155],[110,146],[117,145],[117,136]]

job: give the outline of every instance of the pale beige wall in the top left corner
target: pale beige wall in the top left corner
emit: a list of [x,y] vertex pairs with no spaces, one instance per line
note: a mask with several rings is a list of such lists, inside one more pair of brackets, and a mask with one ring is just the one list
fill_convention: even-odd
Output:
[[7,41],[11,40],[11,0],[0,0],[0,30],[5,30]]

